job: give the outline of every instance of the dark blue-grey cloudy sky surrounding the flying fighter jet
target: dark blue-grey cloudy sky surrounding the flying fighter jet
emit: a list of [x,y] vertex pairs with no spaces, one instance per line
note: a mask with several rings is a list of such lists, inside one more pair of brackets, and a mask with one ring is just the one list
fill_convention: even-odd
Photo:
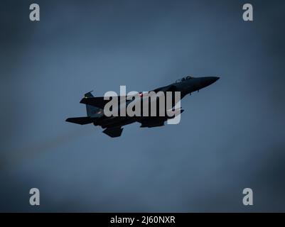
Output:
[[[284,1],[1,1],[0,211],[285,211]],[[66,123],[82,95],[220,76],[181,123]],[[29,189],[41,206],[28,204]],[[254,206],[242,205],[242,189]]]

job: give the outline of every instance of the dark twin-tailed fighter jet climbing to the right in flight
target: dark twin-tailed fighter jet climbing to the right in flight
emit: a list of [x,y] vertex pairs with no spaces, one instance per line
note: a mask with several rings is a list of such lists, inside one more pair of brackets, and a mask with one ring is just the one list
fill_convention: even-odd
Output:
[[[158,87],[152,91],[156,93],[163,92],[163,94],[166,94],[166,92],[180,92],[181,99],[183,99],[186,95],[191,94],[192,92],[199,92],[200,89],[208,87],[210,84],[216,82],[217,79],[220,79],[220,77],[187,76],[176,80],[176,82],[172,84],[169,84],[165,87]],[[140,92],[138,95],[141,97],[141,99],[144,97],[144,93],[142,92]],[[134,101],[134,99],[126,101],[125,106],[128,106],[131,101]],[[95,126],[101,126],[104,128],[103,133],[109,135],[112,138],[115,138],[122,135],[122,126],[126,126],[130,123],[139,122],[141,123],[141,128],[153,128],[164,126],[165,121],[167,121],[169,118],[173,118],[173,116],[168,117],[168,114],[165,116],[106,116],[104,113],[104,106],[108,102],[109,100],[105,100],[104,97],[95,97],[91,92],[88,92],[80,101],[81,104],[86,105],[87,116],[67,118],[65,121],[77,123],[80,125],[93,123]],[[176,102],[173,101],[172,107],[175,105]],[[166,111],[169,110],[166,109]],[[183,111],[183,109],[179,109],[180,114]]]

